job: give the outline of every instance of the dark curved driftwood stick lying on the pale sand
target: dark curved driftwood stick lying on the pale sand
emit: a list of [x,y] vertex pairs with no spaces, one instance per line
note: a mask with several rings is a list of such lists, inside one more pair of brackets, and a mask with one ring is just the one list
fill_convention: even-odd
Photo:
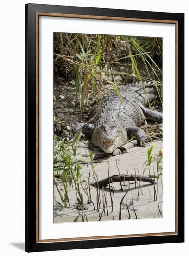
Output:
[[102,188],[103,186],[107,186],[112,182],[123,182],[125,179],[125,181],[141,181],[141,182],[149,182],[151,184],[156,184],[156,182],[154,182],[154,180],[151,177],[148,176],[141,176],[141,175],[135,175],[135,174],[120,174],[120,175],[113,175],[111,177],[108,177],[106,179],[100,180],[98,182],[95,183],[91,183],[90,185],[93,187],[98,187]]

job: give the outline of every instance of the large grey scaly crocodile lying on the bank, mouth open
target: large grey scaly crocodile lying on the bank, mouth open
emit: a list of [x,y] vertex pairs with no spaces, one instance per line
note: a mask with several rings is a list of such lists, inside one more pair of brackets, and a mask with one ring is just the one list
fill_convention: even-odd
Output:
[[128,84],[119,94],[113,91],[95,104],[89,113],[90,120],[76,124],[75,132],[82,129],[82,133],[89,133],[92,143],[107,154],[120,154],[115,154],[116,149],[123,148],[130,135],[135,135],[139,145],[145,146],[145,131],[140,126],[145,118],[162,122],[162,112],[147,108],[160,100],[160,94],[162,86],[157,90],[154,82]]

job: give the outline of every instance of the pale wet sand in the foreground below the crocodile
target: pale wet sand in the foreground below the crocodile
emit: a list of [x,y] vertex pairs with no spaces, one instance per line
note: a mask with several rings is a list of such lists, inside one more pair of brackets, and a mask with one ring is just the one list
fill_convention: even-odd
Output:
[[[120,174],[137,174],[137,175],[149,175],[148,169],[144,165],[147,160],[147,149],[154,146],[152,151],[152,156],[158,155],[159,150],[162,149],[162,141],[152,141],[146,144],[146,147],[136,146],[127,150],[127,153],[111,156],[110,158],[95,163],[95,173],[98,180],[108,177],[108,162],[109,162],[109,175],[119,175]],[[84,150],[84,151],[83,151]],[[87,149],[81,148],[80,155],[88,155]],[[118,168],[119,172],[118,172]],[[150,172],[151,175],[156,174],[156,162],[151,164]],[[92,167],[90,164],[82,164],[83,179],[88,186],[88,177],[90,174],[89,183],[95,182]],[[76,190],[75,188],[69,188],[69,201],[70,207],[61,208],[54,202],[54,223],[57,222],[74,222],[82,221],[105,221],[105,220],[118,220],[121,219],[135,219],[135,218],[160,218],[163,216],[162,209],[162,180],[163,176],[160,175],[158,179],[158,185],[150,184],[147,182],[135,182],[135,181],[125,181],[125,182],[114,182],[110,184],[111,193],[109,190],[109,185],[105,189],[96,189],[90,186],[91,199],[93,203],[88,204],[88,196],[81,189],[85,209],[76,209]],[[57,182],[59,182],[57,180]],[[157,179],[156,179],[157,182]],[[86,183],[83,182],[83,187],[85,188]],[[122,186],[122,188],[121,188]],[[61,181],[58,184],[58,188],[61,193],[63,193],[63,185]],[[129,191],[127,192],[127,189]],[[99,212],[97,211],[97,190],[100,195],[100,205],[98,206]],[[89,189],[87,189],[89,195]],[[114,192],[113,192],[114,191]],[[126,193],[127,192],[127,193]],[[124,197],[122,203],[121,199]],[[154,201],[154,196],[158,195],[158,200]],[[56,186],[54,186],[54,197],[57,201],[60,201],[59,193]],[[54,200],[55,201],[55,200]],[[113,201],[113,203],[112,203]],[[104,207],[103,207],[104,205]],[[112,210],[113,205],[113,210]],[[120,211],[121,209],[121,211]],[[120,216],[121,212],[121,216]]]

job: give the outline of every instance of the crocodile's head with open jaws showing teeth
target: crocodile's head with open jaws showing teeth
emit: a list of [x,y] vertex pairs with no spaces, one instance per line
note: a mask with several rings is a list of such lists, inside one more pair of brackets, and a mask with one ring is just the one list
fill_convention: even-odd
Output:
[[96,141],[93,141],[93,143],[95,142],[94,144],[99,146],[105,153],[110,154],[123,144],[121,130],[115,125],[103,124],[95,129],[95,134]]

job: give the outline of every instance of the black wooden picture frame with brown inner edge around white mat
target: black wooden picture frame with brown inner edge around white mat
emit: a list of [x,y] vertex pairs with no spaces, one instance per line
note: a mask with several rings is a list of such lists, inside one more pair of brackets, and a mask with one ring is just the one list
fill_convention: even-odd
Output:
[[[175,25],[175,231],[39,239],[39,17],[120,20]],[[66,232],[66,231],[65,231]],[[184,242],[184,14],[90,7],[25,5],[25,251]]]

